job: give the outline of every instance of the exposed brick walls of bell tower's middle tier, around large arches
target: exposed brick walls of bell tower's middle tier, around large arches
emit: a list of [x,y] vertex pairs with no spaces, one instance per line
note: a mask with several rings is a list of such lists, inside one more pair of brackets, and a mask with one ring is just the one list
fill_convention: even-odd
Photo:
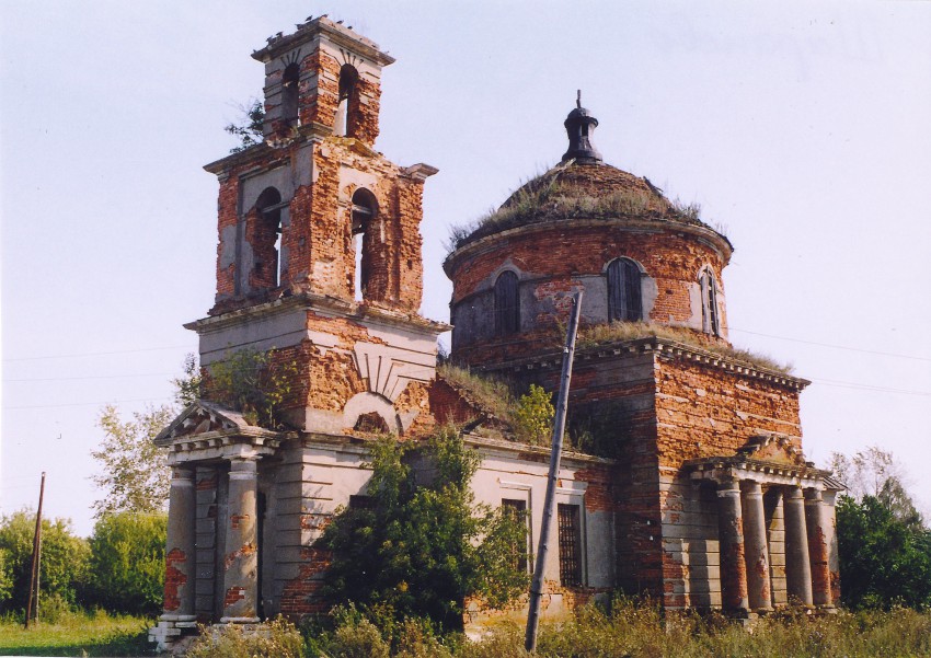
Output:
[[[370,122],[369,122],[370,123]],[[238,221],[240,176],[255,168],[290,165],[301,141],[295,141],[261,155],[237,161],[221,176],[218,235],[234,234]],[[280,285],[274,254],[275,232],[262,221],[255,208],[246,212],[244,240],[251,246],[254,263],[240,263],[251,290],[235,289],[237,263],[220,267],[223,249],[227,256],[233,245],[220,244],[217,251],[217,303],[219,314],[276,299],[286,291],[315,292],[355,301],[355,242],[353,240],[352,197],[355,183],[341,188],[340,172],[349,168],[375,177],[370,193],[378,204],[377,217],[369,222],[363,240],[363,264],[367,281],[365,301],[370,304],[416,313],[423,296],[423,263],[419,223],[423,219],[423,181],[406,176],[400,168],[366,148],[356,148],[356,139],[333,137],[313,147],[315,180],[299,186],[289,204],[289,224],[281,229],[281,245],[287,249]],[[288,200],[288,199],[285,199]]]

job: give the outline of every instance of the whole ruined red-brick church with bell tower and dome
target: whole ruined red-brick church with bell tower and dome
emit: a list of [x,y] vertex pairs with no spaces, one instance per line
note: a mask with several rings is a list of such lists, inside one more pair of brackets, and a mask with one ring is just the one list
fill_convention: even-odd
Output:
[[[736,616],[832,607],[840,485],[802,452],[808,382],[731,348],[724,235],[607,164],[579,105],[560,163],[458,235],[444,267],[459,370],[438,369],[450,326],[418,314],[422,195],[437,170],[375,150],[394,59],[326,18],[252,56],[265,139],[206,166],[220,186],[216,303],[186,326],[207,372],[239,349],[296,365],[294,429],[198,401],[157,438],[172,481],[154,639],[322,610],[314,541],[367,495],[379,432],[458,424],[483,458],[478,500],[527,512],[532,569],[549,448],[518,439],[469,382],[552,392],[579,289],[543,614],[616,590]],[[467,621],[487,613],[470,602]]]

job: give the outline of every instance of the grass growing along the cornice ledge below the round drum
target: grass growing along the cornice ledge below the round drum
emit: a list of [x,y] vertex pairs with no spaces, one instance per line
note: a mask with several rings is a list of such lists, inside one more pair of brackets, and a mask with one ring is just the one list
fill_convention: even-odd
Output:
[[635,340],[650,336],[682,343],[689,347],[703,349],[735,361],[740,361],[754,368],[773,370],[783,374],[792,372],[791,363],[781,363],[767,355],[704,339],[702,334],[686,327],[674,327],[646,322],[611,322],[579,327],[578,347],[595,347],[607,343]]

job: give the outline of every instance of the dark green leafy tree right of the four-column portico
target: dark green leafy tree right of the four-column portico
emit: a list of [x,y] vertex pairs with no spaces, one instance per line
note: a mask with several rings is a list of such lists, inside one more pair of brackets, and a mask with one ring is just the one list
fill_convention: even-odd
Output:
[[876,496],[837,505],[841,599],[850,608],[931,603],[931,534]]

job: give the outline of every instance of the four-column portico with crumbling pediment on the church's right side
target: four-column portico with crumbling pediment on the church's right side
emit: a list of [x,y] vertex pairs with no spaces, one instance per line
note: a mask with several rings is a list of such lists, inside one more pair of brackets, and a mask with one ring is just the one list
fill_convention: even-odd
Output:
[[[782,506],[785,594],[790,604],[834,608],[830,542],[834,493],[827,471],[813,464],[750,460],[743,454],[693,460],[692,481],[716,487],[721,602],[743,615],[773,610],[773,555],[768,540],[765,494]],[[830,494],[825,500],[824,492]]]

